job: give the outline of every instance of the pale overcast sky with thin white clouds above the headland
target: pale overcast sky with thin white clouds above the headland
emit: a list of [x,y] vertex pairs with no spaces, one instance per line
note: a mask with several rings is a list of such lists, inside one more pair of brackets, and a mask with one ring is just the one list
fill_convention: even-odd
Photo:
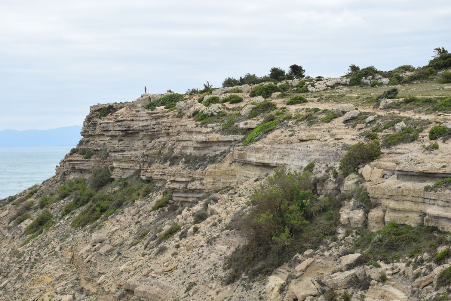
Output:
[[2,0],[0,130],[82,125],[89,106],[298,64],[423,66],[451,51],[449,0]]

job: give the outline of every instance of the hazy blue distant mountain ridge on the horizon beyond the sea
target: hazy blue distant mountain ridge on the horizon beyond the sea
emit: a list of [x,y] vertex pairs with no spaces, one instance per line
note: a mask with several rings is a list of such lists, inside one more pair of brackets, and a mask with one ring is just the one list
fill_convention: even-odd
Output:
[[81,125],[50,130],[1,130],[0,148],[76,145],[82,138]]

